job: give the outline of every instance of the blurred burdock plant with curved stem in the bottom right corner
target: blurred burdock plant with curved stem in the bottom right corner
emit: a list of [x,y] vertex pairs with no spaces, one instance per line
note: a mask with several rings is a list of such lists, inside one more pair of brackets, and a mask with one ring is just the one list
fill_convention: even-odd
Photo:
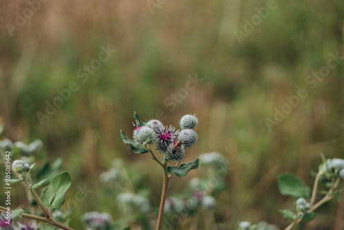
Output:
[[[344,159],[333,158],[326,159],[322,156],[323,162],[319,165],[319,171],[315,176],[313,188],[309,187],[302,180],[293,174],[283,174],[279,176],[277,182],[279,191],[282,195],[292,196],[296,199],[294,202],[295,211],[284,209],[279,210],[283,218],[290,220],[290,224],[285,230],[291,230],[301,222],[310,222],[316,218],[316,209],[336,198],[341,200],[341,191],[344,190]],[[319,182],[323,182],[327,191],[321,191],[323,197],[316,200],[319,190]],[[258,230],[259,225],[251,225],[250,222],[240,222],[241,230]]]

